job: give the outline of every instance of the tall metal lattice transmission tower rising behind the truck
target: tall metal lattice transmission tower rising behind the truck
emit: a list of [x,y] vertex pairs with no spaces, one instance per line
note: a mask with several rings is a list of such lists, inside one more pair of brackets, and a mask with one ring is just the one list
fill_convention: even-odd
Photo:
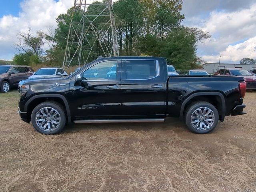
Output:
[[73,11],[63,68],[85,65],[93,50],[105,57],[119,56],[112,0],[75,0]]

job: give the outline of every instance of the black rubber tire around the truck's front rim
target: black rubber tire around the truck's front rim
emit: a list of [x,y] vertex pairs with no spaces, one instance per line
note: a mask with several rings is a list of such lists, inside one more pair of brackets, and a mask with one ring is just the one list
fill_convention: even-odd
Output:
[[[38,110],[40,110],[41,108],[44,108],[44,107],[54,108],[60,114],[60,118],[61,118],[60,126],[54,131],[51,131],[51,132],[44,131],[44,130],[40,129],[38,127],[38,125],[36,124],[36,120],[35,120],[36,119],[36,113],[38,112]],[[34,110],[32,111],[32,113],[31,113],[31,122],[32,122],[32,125],[35,128],[35,130],[37,130],[38,132],[40,132],[42,134],[46,134],[46,135],[51,135],[51,134],[56,134],[56,133],[60,132],[64,128],[64,126],[66,124],[66,115],[64,113],[63,108],[61,106],[59,106],[58,104],[55,104],[53,102],[44,102],[44,103],[39,104],[38,106],[36,106],[34,108]]]

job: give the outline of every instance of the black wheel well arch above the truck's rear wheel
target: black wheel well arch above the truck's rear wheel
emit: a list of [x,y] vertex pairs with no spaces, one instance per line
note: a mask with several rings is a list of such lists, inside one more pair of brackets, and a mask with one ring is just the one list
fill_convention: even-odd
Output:
[[221,117],[221,115],[222,115],[222,100],[221,100],[220,96],[218,96],[218,95],[205,95],[205,96],[193,97],[191,100],[189,100],[186,103],[184,111],[183,111],[183,115],[185,114],[185,112],[186,112],[187,108],[190,106],[190,104],[192,104],[194,102],[198,102],[198,101],[204,101],[204,102],[208,102],[208,103],[212,104],[218,110],[219,119],[222,118]]

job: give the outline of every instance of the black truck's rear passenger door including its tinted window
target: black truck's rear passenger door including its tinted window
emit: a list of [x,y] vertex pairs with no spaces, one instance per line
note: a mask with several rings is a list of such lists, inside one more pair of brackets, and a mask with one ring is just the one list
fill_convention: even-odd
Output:
[[120,115],[154,116],[166,113],[166,82],[156,60],[122,60]]

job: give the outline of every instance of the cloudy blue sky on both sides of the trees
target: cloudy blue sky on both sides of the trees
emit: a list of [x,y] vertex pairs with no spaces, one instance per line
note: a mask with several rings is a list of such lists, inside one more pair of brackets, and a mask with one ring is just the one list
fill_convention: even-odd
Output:
[[[12,3],[10,3],[12,2]],[[11,60],[18,32],[28,26],[47,32],[56,27],[55,18],[65,13],[74,0],[1,0],[0,59]],[[183,24],[212,34],[198,44],[198,56],[207,62],[237,63],[256,58],[256,0],[183,0]]]

